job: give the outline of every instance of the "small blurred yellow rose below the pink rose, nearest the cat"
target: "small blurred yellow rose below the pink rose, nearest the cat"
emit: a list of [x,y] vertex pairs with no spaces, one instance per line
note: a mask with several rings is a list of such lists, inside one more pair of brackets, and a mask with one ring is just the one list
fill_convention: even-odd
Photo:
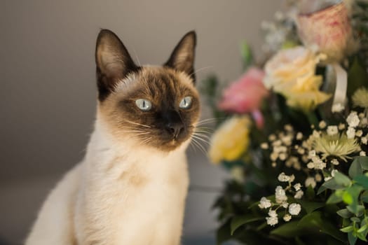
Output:
[[249,146],[250,119],[247,116],[234,116],[226,120],[214,132],[208,155],[213,163],[222,160],[233,161],[240,158]]

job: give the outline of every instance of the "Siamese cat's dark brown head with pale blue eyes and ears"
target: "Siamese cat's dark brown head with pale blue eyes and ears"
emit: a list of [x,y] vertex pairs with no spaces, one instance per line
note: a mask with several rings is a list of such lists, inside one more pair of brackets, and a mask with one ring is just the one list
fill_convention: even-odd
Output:
[[189,141],[200,111],[195,47],[196,33],[191,31],[163,66],[137,66],[116,34],[100,31],[97,116],[115,139],[165,152]]

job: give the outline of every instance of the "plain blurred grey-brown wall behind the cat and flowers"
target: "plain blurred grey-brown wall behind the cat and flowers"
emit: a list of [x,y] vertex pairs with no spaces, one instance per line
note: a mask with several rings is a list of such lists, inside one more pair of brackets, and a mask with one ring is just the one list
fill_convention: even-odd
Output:
[[[95,38],[115,31],[135,60],[162,64],[191,29],[198,83],[241,72],[239,43],[261,48],[259,25],[281,0],[0,0],[0,244],[22,244],[48,191],[83,158],[95,117]],[[204,113],[203,117],[208,117]],[[191,183],[226,173],[189,151]],[[191,190],[184,244],[214,244],[216,193]]]

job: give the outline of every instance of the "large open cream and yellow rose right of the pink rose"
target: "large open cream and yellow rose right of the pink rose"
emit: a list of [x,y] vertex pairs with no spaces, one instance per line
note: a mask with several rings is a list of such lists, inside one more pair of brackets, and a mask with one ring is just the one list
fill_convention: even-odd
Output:
[[266,63],[264,85],[285,96],[289,106],[311,111],[330,97],[320,92],[322,77],[315,75],[320,58],[303,46],[280,50]]

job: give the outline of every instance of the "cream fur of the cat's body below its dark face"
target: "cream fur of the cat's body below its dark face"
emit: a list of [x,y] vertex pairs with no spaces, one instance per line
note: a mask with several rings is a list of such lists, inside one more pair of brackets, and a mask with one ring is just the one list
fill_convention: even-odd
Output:
[[25,244],[179,244],[189,141],[161,153],[115,139],[98,115],[85,159],[51,191]]

